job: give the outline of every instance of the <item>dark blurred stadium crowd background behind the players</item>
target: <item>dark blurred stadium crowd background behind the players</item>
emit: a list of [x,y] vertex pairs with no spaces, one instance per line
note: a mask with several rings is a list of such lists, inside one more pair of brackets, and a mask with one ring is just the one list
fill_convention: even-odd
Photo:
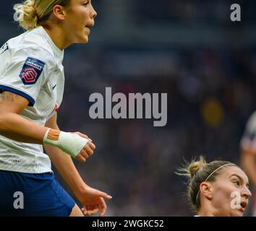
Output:
[[[13,19],[17,3],[1,2],[1,44],[22,32]],[[256,109],[256,2],[235,2],[242,22],[231,22],[228,0],[92,3],[98,17],[90,43],[72,45],[64,58],[59,127],[88,134],[97,147],[75,165],[88,185],[114,197],[108,216],[192,216],[176,168],[200,154],[238,164]],[[113,94],[167,92],[167,125],[91,119],[90,94],[104,95],[106,87]]]

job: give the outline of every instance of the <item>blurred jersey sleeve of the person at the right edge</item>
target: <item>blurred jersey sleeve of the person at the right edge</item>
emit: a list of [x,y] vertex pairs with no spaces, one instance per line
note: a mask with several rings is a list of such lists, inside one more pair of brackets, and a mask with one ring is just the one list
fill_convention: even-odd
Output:
[[256,155],[256,112],[247,121],[240,147],[244,152]]

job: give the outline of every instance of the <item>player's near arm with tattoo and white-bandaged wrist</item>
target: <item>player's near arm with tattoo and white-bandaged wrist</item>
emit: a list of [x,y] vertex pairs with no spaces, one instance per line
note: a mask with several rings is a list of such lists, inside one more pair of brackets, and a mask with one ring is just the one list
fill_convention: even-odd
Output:
[[52,145],[81,162],[93,154],[94,148],[88,139],[40,126],[19,115],[28,104],[25,97],[12,92],[0,94],[0,135],[23,143]]

